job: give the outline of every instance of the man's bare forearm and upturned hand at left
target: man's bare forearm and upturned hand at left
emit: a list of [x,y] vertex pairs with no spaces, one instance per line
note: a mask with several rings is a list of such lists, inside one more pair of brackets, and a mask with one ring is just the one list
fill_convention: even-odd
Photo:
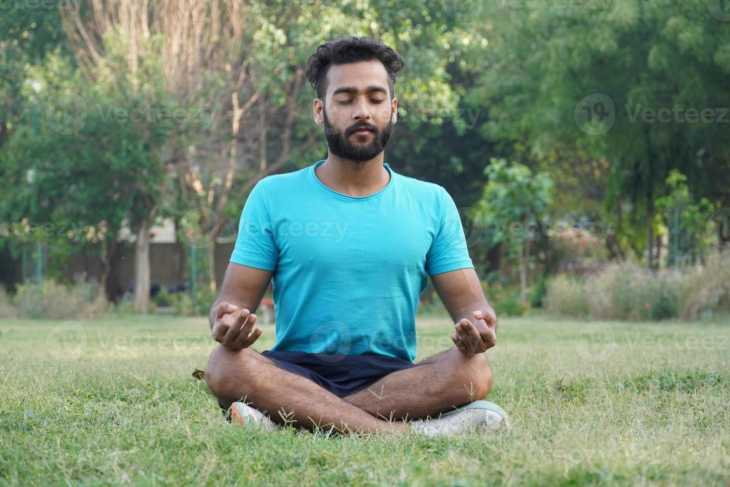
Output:
[[213,339],[230,348],[246,348],[261,336],[253,330],[255,310],[271,282],[273,272],[231,262],[226,269],[223,288],[210,310]]

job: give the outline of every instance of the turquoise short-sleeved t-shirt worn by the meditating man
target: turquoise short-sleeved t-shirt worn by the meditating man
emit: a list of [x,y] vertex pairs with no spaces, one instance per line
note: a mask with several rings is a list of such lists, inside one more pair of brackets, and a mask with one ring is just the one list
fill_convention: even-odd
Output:
[[456,205],[387,163],[385,188],[347,196],[316,177],[323,162],[255,185],[231,262],[274,271],[272,350],[413,361],[426,275],[474,267]]

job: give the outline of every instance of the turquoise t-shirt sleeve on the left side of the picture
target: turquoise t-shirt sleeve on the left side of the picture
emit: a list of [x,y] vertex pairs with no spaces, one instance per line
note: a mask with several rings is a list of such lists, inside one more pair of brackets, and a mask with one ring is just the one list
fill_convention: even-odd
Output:
[[272,271],[279,261],[264,180],[251,190],[241,212],[231,262]]

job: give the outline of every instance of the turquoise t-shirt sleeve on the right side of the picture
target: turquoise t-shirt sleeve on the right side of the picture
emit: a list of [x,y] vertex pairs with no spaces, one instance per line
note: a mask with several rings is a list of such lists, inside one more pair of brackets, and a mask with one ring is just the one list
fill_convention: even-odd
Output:
[[[440,188],[440,187],[439,187]],[[466,248],[464,228],[456,204],[444,188],[440,188],[441,213],[439,231],[426,253],[426,272],[429,275],[456,269],[474,268]]]

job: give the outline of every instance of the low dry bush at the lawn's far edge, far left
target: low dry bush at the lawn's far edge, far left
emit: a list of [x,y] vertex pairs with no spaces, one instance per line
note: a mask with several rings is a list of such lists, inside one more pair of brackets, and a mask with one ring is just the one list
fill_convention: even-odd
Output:
[[101,286],[82,276],[77,276],[73,285],[53,279],[18,285],[13,304],[20,318],[50,319],[99,318],[108,307]]

